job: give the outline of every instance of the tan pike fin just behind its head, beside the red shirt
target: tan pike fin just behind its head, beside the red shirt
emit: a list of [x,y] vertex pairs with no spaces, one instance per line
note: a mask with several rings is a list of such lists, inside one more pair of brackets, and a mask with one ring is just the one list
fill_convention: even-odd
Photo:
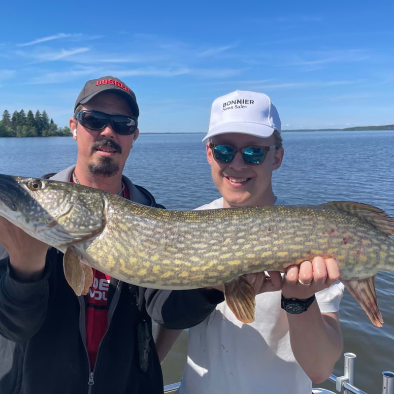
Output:
[[93,269],[81,263],[80,255],[74,246],[69,246],[63,258],[63,269],[71,289],[77,296],[88,294],[93,283]]

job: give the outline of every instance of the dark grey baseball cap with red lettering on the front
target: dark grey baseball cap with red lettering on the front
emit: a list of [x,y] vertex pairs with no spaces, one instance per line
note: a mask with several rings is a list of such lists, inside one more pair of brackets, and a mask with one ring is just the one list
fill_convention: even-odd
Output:
[[138,118],[139,108],[134,92],[120,79],[111,75],[97,79],[91,79],[90,81],[86,82],[85,86],[81,90],[81,93],[78,95],[77,100],[75,101],[74,112],[79,104],[87,103],[90,99],[97,96],[101,92],[113,92],[123,96],[130,104],[133,115]]

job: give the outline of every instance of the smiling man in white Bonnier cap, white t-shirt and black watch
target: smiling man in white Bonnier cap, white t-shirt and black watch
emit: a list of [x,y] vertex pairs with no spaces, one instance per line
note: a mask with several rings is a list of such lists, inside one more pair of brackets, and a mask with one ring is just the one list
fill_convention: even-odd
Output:
[[[197,209],[286,204],[271,185],[284,154],[280,131],[266,95],[235,91],[216,99],[203,141],[222,197]],[[254,323],[239,322],[223,302],[189,329],[180,394],[305,394],[331,374],[342,351],[336,261],[316,257],[283,278],[269,274],[246,275],[258,294]]]

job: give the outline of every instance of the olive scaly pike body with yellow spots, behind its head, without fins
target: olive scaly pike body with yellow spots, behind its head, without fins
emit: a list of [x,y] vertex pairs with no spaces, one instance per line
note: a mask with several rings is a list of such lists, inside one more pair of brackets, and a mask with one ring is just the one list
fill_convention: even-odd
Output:
[[[318,255],[341,256],[341,277],[362,278],[382,265],[380,249],[365,247],[362,240],[388,242],[361,219],[320,206],[168,211],[139,205],[128,211],[129,201],[108,199],[113,208],[106,228],[87,251],[105,271],[105,257],[96,257],[96,251],[117,250],[117,258],[128,262],[118,265],[121,279],[148,287],[212,286],[244,273],[285,270]],[[297,237],[304,229],[308,234]],[[390,251],[394,255],[394,246]],[[110,268],[113,272],[112,262]]]

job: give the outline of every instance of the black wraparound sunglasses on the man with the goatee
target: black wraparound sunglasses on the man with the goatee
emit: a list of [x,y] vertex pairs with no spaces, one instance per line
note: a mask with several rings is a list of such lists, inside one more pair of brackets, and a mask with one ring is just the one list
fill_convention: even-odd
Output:
[[75,119],[91,130],[102,130],[108,123],[118,134],[130,135],[137,130],[137,118],[125,115],[109,115],[104,112],[83,110],[75,114]]

